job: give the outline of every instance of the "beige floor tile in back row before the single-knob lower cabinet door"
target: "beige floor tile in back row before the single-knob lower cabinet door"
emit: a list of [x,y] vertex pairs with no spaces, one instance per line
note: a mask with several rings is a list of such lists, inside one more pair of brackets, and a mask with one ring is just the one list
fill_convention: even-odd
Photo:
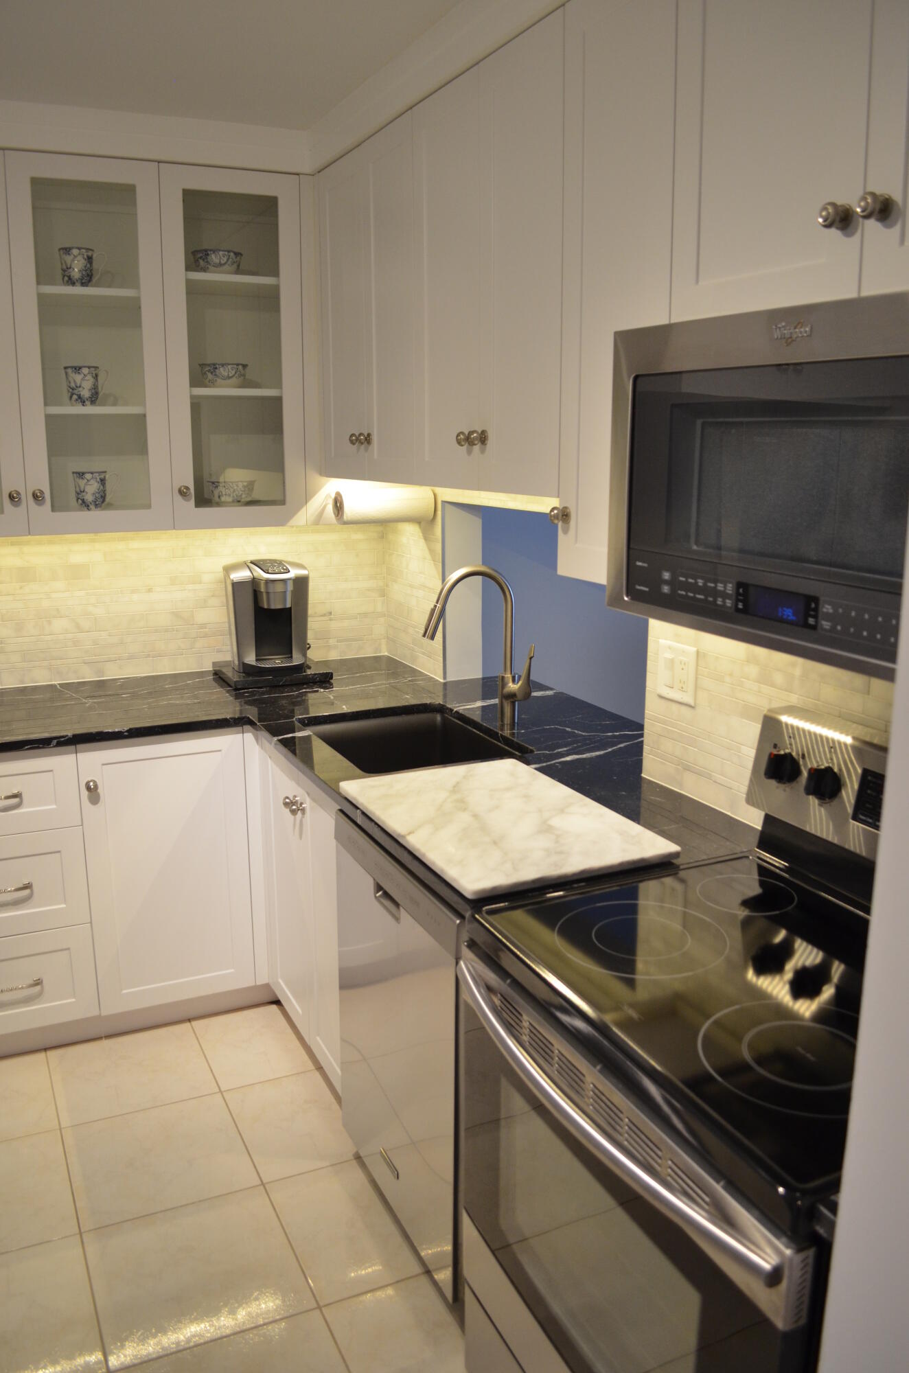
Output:
[[63,1126],[217,1092],[185,1022],[49,1049],[48,1063]]

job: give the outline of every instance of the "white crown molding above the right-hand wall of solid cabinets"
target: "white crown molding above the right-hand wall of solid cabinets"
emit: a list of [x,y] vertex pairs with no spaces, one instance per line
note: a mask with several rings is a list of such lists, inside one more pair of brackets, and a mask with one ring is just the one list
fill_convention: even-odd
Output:
[[306,172],[320,172],[371,133],[518,37],[566,0],[461,0],[400,56],[306,130]]

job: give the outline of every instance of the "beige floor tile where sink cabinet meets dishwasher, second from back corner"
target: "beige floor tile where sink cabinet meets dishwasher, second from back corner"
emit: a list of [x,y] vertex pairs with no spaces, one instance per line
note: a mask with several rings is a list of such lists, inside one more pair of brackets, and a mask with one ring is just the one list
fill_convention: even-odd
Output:
[[353,1157],[341,1107],[320,1072],[257,1082],[225,1097],[265,1182]]

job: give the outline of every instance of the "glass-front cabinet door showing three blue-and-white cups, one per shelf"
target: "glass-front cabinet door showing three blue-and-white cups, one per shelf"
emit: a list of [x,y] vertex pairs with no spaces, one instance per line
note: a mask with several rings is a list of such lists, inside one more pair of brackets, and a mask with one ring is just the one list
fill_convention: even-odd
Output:
[[30,530],[168,529],[158,169],[36,152],[5,168]]

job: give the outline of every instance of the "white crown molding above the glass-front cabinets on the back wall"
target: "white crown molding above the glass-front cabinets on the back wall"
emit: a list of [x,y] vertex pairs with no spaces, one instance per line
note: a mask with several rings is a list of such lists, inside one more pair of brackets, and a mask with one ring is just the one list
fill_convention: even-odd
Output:
[[301,129],[27,100],[0,100],[0,147],[255,172],[297,173],[309,172],[312,166],[309,135]]

